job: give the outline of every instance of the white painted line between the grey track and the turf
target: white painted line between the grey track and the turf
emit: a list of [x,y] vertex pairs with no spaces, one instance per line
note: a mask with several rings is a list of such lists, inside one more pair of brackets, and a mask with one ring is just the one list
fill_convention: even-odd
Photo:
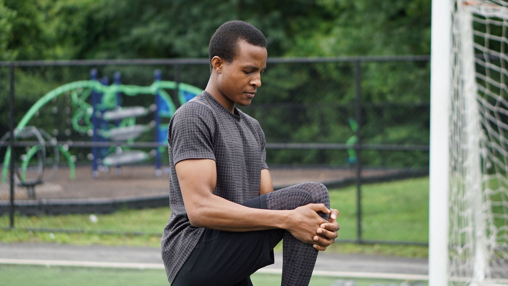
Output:
[[[131,268],[131,269],[164,269],[163,264],[158,263],[128,263],[128,262],[98,262],[98,261],[73,261],[73,260],[42,260],[42,259],[8,259],[0,258],[0,264],[17,265],[44,265],[44,266],[78,266],[78,267],[104,267],[104,268]],[[279,268],[262,268],[256,273],[281,274]],[[351,278],[377,278],[398,280],[428,280],[428,275],[402,274],[402,273],[379,273],[379,272],[350,272],[350,271],[326,271],[314,270],[313,275],[329,277]]]

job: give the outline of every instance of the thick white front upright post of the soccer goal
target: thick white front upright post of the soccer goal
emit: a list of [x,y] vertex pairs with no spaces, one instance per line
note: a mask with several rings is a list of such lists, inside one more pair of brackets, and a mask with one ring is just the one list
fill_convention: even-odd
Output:
[[452,3],[432,1],[430,65],[429,285],[448,273],[449,116]]

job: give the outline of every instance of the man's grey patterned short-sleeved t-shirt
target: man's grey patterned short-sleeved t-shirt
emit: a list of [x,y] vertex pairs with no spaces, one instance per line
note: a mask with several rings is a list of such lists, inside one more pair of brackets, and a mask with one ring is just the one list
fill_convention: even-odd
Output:
[[171,215],[162,237],[162,258],[171,283],[204,231],[190,225],[175,164],[185,159],[215,160],[213,193],[237,204],[259,195],[261,169],[268,166],[265,134],[258,121],[236,107],[232,113],[206,91],[176,110],[168,143]]

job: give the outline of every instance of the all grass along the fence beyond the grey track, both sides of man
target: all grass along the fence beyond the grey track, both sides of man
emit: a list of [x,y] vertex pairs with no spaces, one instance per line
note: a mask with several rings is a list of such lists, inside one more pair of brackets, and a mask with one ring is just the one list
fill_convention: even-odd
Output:
[[[356,239],[356,187],[330,190],[331,207],[338,209],[341,229],[339,239]],[[55,242],[69,244],[102,244],[160,246],[170,214],[169,208],[121,210],[97,215],[93,223],[89,215],[16,216],[16,227],[69,228],[87,231],[143,232],[147,235],[101,235],[42,233],[22,230],[0,230],[0,242]],[[9,217],[0,217],[0,226],[8,226]],[[362,186],[362,235],[365,240],[428,240],[428,178],[365,184]],[[280,246],[276,248],[280,250]],[[427,256],[427,247],[400,245],[358,245],[335,243],[329,250],[345,253],[377,253],[401,256]]]

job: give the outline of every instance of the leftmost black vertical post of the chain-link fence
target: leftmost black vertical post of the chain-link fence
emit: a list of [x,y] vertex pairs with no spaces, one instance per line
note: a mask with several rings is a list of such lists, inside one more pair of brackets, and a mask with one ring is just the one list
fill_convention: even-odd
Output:
[[11,174],[9,176],[9,184],[11,188],[11,194],[10,194],[10,203],[11,208],[9,212],[9,219],[10,219],[10,227],[14,227],[14,158],[16,154],[14,153],[14,63],[11,62],[11,65],[9,66],[9,72],[10,72],[10,94],[9,94],[9,131],[11,132],[11,138],[9,140],[9,147],[11,148],[11,161],[10,161],[10,171]]

